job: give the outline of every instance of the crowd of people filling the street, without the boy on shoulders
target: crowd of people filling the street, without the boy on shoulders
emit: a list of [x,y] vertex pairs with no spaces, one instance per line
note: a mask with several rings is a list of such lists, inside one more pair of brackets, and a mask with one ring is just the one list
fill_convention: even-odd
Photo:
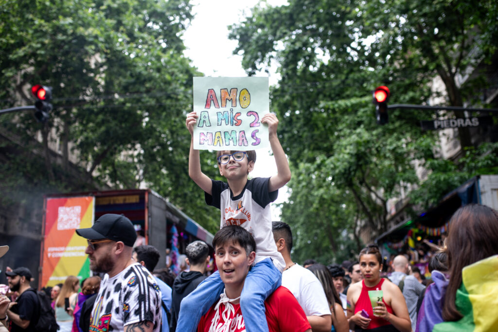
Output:
[[[106,215],[95,224],[116,219],[121,222],[115,223],[116,229],[112,231],[119,238],[112,241],[126,240],[119,234],[126,232],[126,226],[132,230],[132,224],[124,216]],[[58,331],[105,331],[106,315],[103,320],[99,314],[106,306],[116,312],[120,309],[124,314],[118,331],[134,331],[125,329],[128,321],[145,327],[149,322],[150,331],[184,331],[177,327],[180,311],[184,310],[182,300],[202,289],[203,281],[208,278],[211,258],[208,244],[199,240],[190,243],[185,252],[188,268],[178,276],[168,272],[164,278],[159,273],[162,270],[154,270],[160,255],[153,246],[127,246],[124,251],[130,257],[126,254],[112,263],[109,261],[112,257],[96,255],[99,244],[113,238],[110,233],[103,235],[104,240],[89,240],[87,251],[92,270],[95,274],[105,273],[104,280],[97,275],[83,280],[69,276],[64,283],[43,289]],[[290,226],[272,222],[272,236],[285,268],[281,285],[263,301],[263,319],[269,331],[429,332],[456,327],[458,331],[496,331],[498,318],[493,313],[498,301],[498,213],[489,207],[467,205],[455,213],[444,246],[430,255],[431,277],[422,280],[414,273],[408,254],[386,260],[376,245],[368,245],[358,254],[358,261],[325,266],[310,259],[301,266],[291,258]],[[194,330],[250,331],[245,327],[240,299],[254,268],[257,250],[254,238],[243,227],[228,225],[215,235],[213,247],[223,290],[205,313],[199,312]],[[7,249],[0,247],[0,254]],[[5,274],[9,291],[0,298],[0,332],[7,331],[2,330],[4,326],[14,332],[42,331],[37,322],[42,309],[36,305],[42,299],[31,288],[31,272],[18,267],[8,269]],[[134,283],[142,283],[144,289],[137,287],[123,293],[123,289]],[[116,298],[111,295],[109,298],[114,300],[105,302],[106,294],[113,292]],[[202,296],[211,295],[204,290]],[[129,299],[142,305],[147,302],[150,308],[132,319],[130,309],[123,308],[126,304],[131,308]],[[201,306],[198,308],[200,311]],[[116,317],[113,315],[114,320]],[[477,326],[479,329],[475,330]]]

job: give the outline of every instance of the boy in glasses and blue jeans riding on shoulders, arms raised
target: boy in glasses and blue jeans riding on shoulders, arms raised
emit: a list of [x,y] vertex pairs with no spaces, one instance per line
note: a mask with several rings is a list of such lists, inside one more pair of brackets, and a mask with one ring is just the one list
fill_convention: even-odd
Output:
[[[198,114],[187,115],[186,125],[192,135],[189,154],[189,176],[205,192],[206,203],[221,210],[221,228],[237,224],[247,229],[256,241],[256,259],[244,282],[240,297],[241,310],[248,332],[268,331],[264,300],[280,286],[285,262],[277,251],[271,230],[269,203],[290,180],[287,158],[277,137],[278,119],[266,113],[261,123],[268,126],[269,143],[277,166],[277,175],[248,179],[254,167],[255,151],[217,151],[220,174],[227,179],[215,181],[201,171],[199,150],[194,149],[194,126]],[[218,255],[218,253],[215,253]],[[230,253],[227,253],[230,255]],[[223,267],[220,267],[223,268]],[[236,271],[225,271],[225,275]],[[219,299],[224,289],[220,274],[215,272],[184,298],[180,307],[177,331],[195,331],[199,320]],[[236,300],[236,299],[232,299]]]

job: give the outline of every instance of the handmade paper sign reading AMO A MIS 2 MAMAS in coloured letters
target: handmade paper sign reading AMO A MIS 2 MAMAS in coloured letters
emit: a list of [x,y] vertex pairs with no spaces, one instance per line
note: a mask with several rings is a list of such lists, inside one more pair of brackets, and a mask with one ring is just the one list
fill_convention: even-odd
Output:
[[268,147],[268,95],[267,77],[194,77],[194,149]]

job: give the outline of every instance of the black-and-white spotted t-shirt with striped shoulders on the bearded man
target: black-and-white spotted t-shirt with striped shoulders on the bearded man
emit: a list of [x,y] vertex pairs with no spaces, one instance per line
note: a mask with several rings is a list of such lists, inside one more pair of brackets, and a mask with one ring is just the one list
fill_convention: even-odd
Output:
[[161,331],[161,292],[154,277],[138,263],[100,284],[89,331],[123,331],[124,326],[149,321]]

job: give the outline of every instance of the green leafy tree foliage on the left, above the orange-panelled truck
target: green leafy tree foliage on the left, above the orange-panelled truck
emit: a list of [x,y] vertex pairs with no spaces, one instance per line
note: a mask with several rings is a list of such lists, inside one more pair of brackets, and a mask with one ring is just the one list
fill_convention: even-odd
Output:
[[[216,229],[216,214],[208,213],[187,172],[185,114],[192,109],[192,77],[200,75],[182,54],[190,11],[188,0],[0,2],[2,108],[19,106],[19,99],[32,105],[32,84],[53,87],[54,110],[45,125],[30,112],[2,118],[4,129],[23,142],[41,132],[46,187],[145,184]],[[61,165],[48,150],[50,140],[60,142]],[[70,148],[86,185],[71,179]],[[21,166],[9,167],[10,176]]]

